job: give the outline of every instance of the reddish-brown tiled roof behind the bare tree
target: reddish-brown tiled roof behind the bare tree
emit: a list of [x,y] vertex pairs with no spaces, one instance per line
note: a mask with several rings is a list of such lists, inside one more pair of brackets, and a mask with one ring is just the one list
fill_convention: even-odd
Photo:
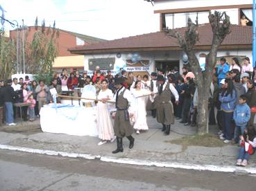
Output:
[[[174,30],[185,33],[187,28],[176,28]],[[197,48],[200,46],[212,45],[212,28],[210,24],[203,24],[198,26],[199,42],[196,43]],[[251,26],[231,26],[231,33],[225,38],[222,46],[237,47],[241,45],[251,45],[253,41],[253,29]],[[69,48],[72,53],[92,53],[96,51],[108,52],[119,49],[120,51],[128,51],[133,48],[143,48],[145,51],[153,50],[154,48],[178,48],[178,41],[173,37],[168,37],[164,32],[148,33],[144,35],[137,35],[134,37],[126,37],[121,39],[114,39],[105,42],[97,42],[85,46],[76,46]]]

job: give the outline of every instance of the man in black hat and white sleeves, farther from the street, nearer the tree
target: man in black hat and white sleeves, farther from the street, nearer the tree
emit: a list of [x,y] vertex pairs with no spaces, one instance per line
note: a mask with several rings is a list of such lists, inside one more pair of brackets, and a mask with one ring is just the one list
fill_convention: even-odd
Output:
[[171,97],[174,96],[175,103],[178,104],[179,95],[173,84],[166,82],[164,76],[157,75],[158,95],[155,97],[157,122],[162,123],[162,131],[166,135],[170,134],[171,124],[174,123],[173,104]]

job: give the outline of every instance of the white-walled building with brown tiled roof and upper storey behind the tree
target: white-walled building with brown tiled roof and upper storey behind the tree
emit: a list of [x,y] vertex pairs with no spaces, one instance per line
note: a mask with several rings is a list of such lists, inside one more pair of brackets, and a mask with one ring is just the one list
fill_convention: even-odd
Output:
[[[196,12],[200,24],[198,27],[200,41],[196,44],[196,56],[200,64],[203,64],[205,55],[209,53],[212,45],[212,28],[207,20],[209,10],[219,10],[226,11],[227,14],[230,13],[233,25],[232,32],[221,44],[217,57],[227,57],[228,60],[231,60],[232,57],[252,58],[252,27],[250,24],[241,25],[239,16],[241,11],[252,8],[250,1],[155,0],[154,3],[154,12],[160,15],[160,32],[71,47],[69,51],[84,55],[85,70],[90,72],[97,64],[99,65],[97,59],[101,59],[101,65],[105,66],[104,69],[115,72],[123,67],[135,74],[149,74],[157,69],[171,71],[175,66],[178,66],[181,71],[183,64],[187,64],[184,60],[184,53],[180,49],[177,39],[167,37],[161,30],[169,27],[184,33],[187,18],[195,15]],[[169,26],[170,19],[167,19],[170,17],[169,15],[173,15],[172,26]],[[112,62],[104,62],[104,59],[107,58],[112,58]]]

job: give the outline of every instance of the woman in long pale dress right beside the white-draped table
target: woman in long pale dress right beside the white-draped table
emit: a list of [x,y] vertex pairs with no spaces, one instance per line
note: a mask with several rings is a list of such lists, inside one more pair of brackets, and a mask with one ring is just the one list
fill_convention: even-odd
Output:
[[115,140],[114,130],[110,118],[110,112],[108,111],[108,103],[105,101],[112,100],[113,93],[108,89],[108,80],[102,80],[101,91],[99,91],[97,111],[97,128],[99,130],[99,138],[101,142],[98,145],[107,143],[108,140],[112,143]]

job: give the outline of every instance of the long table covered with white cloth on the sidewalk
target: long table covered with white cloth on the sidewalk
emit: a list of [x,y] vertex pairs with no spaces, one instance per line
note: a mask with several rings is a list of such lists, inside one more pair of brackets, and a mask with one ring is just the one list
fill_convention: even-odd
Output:
[[76,136],[98,136],[96,107],[42,107],[40,110],[42,131]]

